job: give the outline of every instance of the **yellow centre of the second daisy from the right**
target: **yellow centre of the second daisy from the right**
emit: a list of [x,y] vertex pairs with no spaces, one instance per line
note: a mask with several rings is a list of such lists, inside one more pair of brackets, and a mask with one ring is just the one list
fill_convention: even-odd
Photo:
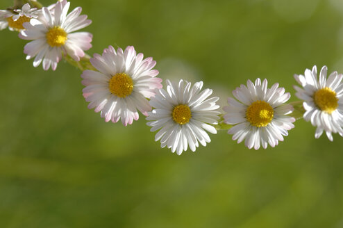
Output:
[[266,127],[274,117],[274,109],[266,101],[255,101],[246,108],[246,120],[255,127]]

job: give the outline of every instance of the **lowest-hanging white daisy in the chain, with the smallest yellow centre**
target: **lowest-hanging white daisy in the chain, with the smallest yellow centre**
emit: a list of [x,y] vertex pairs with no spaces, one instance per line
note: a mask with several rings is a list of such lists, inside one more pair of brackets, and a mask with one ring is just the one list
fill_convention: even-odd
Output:
[[162,148],[167,146],[180,155],[189,145],[194,152],[199,142],[205,147],[211,141],[206,131],[217,133],[210,124],[218,123],[219,112],[215,110],[219,106],[215,102],[219,97],[207,99],[212,90],[200,92],[202,87],[202,81],[191,86],[183,80],[178,83],[167,80],[167,91],[160,89],[151,97],[149,102],[156,109],[148,113],[147,120],[151,122],[147,125],[152,127],[151,131],[160,129],[155,140],[160,140]]

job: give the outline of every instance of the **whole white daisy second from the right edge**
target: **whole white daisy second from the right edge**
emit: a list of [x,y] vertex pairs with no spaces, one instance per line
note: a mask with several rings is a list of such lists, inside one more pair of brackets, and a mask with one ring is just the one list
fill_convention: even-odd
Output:
[[267,79],[262,84],[256,79],[255,85],[248,80],[247,87],[241,85],[233,90],[233,96],[240,101],[229,97],[224,122],[237,124],[228,130],[233,140],[238,143],[245,139],[246,147],[259,149],[260,145],[275,147],[283,136],[288,135],[295,121],[294,117],[287,116],[292,113],[293,106],[284,104],[290,99],[290,93],[284,88],[278,88],[278,83],[267,88]]

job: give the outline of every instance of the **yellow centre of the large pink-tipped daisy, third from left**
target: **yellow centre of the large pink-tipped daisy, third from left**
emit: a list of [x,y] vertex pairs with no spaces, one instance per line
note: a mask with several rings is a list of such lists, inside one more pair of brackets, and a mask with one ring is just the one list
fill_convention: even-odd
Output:
[[108,83],[108,88],[110,92],[117,97],[126,97],[131,95],[133,90],[133,81],[131,76],[128,76],[125,73],[118,73],[115,76],[112,76],[110,83]]

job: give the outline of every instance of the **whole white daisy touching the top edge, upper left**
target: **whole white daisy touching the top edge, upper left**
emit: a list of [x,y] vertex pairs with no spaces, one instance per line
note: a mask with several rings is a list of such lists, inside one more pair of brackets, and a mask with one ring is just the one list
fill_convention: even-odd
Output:
[[72,33],[83,29],[92,21],[87,15],[81,15],[81,7],[75,8],[67,15],[70,3],[66,0],[58,1],[50,12],[49,8],[42,8],[42,17],[31,19],[24,23],[26,30],[19,34],[24,40],[33,40],[25,45],[26,59],[33,58],[33,66],[43,62],[43,69],[56,70],[57,63],[63,54],[68,54],[79,61],[85,56],[84,50],[92,47],[92,34],[85,32]]

